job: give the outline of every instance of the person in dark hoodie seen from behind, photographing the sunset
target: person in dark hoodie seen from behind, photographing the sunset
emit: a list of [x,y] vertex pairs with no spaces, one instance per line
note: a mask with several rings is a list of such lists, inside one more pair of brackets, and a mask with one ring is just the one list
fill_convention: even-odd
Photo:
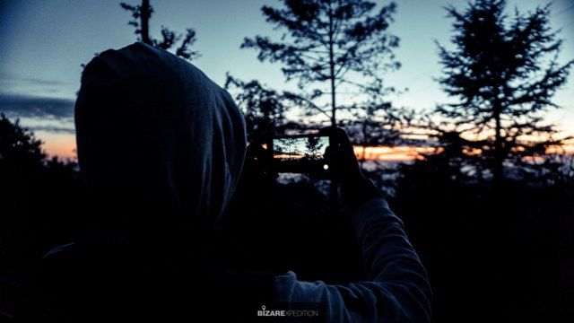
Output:
[[[196,66],[141,42],[107,50],[83,71],[75,123],[90,196],[79,216],[91,217],[95,229],[40,260],[17,320],[253,321],[316,313],[301,303],[320,304],[327,321],[430,320],[424,268],[401,221],[362,178],[344,132],[332,130],[342,143],[334,156],[343,156],[344,196],[368,281],[330,285],[301,282],[292,272],[213,266],[205,240],[237,185],[246,130],[230,94]],[[279,303],[283,312],[274,311]]]

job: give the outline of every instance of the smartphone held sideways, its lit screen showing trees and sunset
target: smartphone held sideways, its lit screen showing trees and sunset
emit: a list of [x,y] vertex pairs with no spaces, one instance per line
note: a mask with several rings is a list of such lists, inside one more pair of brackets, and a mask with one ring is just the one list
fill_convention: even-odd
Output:
[[267,146],[273,153],[274,171],[325,177],[329,173],[325,158],[329,144],[328,135],[311,134],[274,136]]

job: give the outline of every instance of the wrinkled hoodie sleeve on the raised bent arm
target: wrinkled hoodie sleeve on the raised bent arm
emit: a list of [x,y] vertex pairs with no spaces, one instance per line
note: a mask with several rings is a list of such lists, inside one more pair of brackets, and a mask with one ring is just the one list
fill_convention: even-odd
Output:
[[354,225],[367,281],[300,282],[288,272],[275,277],[276,301],[324,303],[328,322],[430,322],[431,286],[402,221],[384,199],[373,198],[359,207]]

